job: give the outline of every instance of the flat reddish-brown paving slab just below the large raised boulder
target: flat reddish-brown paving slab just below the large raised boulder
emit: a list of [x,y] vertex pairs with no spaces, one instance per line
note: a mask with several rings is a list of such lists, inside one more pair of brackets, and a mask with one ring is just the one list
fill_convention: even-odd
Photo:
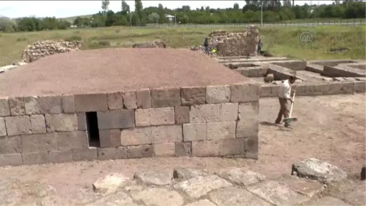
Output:
[[298,177],[285,177],[279,180],[280,184],[284,184],[299,194],[305,195],[308,198],[324,191],[323,184],[318,181],[307,179],[299,179]]

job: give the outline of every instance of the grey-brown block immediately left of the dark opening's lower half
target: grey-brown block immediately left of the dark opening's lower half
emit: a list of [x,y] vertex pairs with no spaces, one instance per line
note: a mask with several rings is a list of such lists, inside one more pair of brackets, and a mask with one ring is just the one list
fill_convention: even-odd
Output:
[[47,133],[46,136],[57,140],[59,150],[86,149],[88,147],[88,137],[84,131]]

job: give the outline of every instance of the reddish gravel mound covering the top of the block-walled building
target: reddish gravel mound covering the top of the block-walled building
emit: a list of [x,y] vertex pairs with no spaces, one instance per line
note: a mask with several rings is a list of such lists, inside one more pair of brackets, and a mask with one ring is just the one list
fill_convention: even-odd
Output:
[[47,56],[0,75],[0,96],[78,94],[249,82],[188,49],[110,48]]

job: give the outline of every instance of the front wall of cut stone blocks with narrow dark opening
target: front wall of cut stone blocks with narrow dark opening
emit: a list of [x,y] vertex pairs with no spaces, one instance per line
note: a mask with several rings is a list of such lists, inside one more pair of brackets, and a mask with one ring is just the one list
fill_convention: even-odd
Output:
[[[143,157],[258,158],[257,84],[0,99],[0,166]],[[99,146],[87,114],[96,112]],[[96,129],[96,126],[94,126]]]

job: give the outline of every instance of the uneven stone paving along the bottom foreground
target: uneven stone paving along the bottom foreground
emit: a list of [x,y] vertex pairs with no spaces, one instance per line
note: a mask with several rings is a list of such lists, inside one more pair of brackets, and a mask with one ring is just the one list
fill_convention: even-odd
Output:
[[[306,162],[306,165],[303,163]],[[301,166],[303,164],[303,166]],[[294,164],[303,173],[269,180],[262,174],[243,168],[224,168],[210,173],[201,169],[176,168],[171,173],[140,171],[133,180],[110,173],[93,183],[93,194],[62,199],[49,185],[36,183],[16,187],[0,181],[1,206],[363,206],[366,182],[340,184],[336,166],[311,158]],[[337,171],[338,173],[333,173]],[[334,178],[320,180],[317,176]],[[345,180],[342,173],[343,182]],[[336,180],[336,181],[335,181]],[[337,182],[337,183],[335,183]],[[353,185],[353,186],[352,186]],[[355,186],[356,185],[356,186]],[[25,188],[33,188],[31,191]],[[19,198],[33,195],[35,201]]]

